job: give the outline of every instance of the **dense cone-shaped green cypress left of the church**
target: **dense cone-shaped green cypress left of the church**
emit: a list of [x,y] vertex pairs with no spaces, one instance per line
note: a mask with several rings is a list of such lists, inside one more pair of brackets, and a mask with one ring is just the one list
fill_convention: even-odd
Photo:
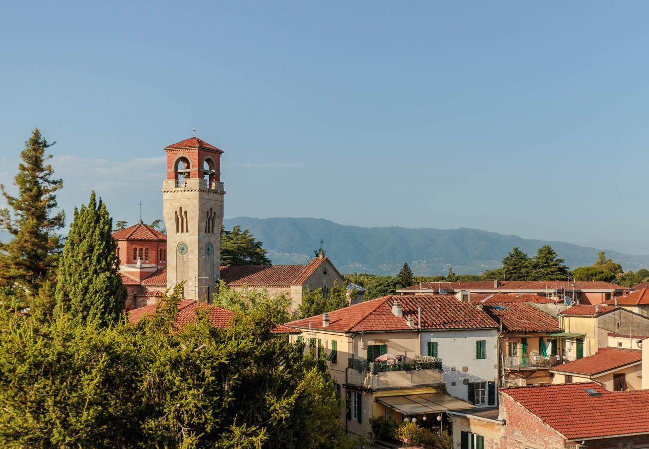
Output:
[[127,291],[117,273],[117,243],[106,205],[90,195],[75,215],[58,272],[56,306],[80,320],[117,321]]

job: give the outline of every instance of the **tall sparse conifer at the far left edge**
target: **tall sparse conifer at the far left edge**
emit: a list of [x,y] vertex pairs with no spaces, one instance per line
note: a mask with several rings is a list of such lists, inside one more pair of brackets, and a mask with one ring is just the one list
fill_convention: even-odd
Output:
[[0,285],[17,285],[29,295],[36,295],[44,282],[55,278],[61,249],[56,232],[64,226],[65,214],[55,209],[56,192],[63,182],[53,178],[54,170],[47,164],[52,145],[34,129],[14,178],[18,195],[10,195],[0,185],[8,205],[0,209],[0,228],[12,236],[8,243],[0,243]]

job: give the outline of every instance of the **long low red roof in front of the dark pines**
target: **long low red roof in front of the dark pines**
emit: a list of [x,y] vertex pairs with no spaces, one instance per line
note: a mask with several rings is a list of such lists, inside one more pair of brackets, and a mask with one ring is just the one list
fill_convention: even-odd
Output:
[[419,291],[419,289],[434,289],[439,291],[439,287],[445,291],[459,290],[478,290],[478,291],[511,291],[511,290],[624,290],[622,285],[611,284],[611,282],[601,281],[500,281],[498,287],[495,287],[494,281],[472,281],[472,282],[423,282],[422,284],[411,285],[400,290]]

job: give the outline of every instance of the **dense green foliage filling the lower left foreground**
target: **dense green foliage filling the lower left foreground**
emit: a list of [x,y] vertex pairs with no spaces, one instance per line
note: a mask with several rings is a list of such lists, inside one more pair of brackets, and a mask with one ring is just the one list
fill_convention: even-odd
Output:
[[0,445],[348,447],[324,361],[271,333],[273,304],[174,328],[180,289],[137,325],[0,317]]

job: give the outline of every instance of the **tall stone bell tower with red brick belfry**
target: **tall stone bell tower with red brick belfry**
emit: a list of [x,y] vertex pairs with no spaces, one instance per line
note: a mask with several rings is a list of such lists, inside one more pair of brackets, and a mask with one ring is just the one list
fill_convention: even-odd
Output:
[[162,209],[167,228],[167,287],[184,281],[184,297],[210,301],[220,277],[223,151],[192,137],[165,147]]

